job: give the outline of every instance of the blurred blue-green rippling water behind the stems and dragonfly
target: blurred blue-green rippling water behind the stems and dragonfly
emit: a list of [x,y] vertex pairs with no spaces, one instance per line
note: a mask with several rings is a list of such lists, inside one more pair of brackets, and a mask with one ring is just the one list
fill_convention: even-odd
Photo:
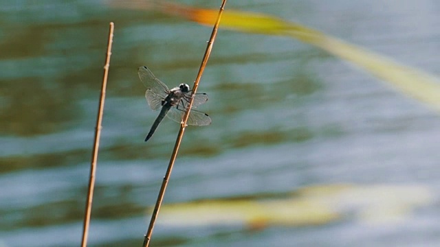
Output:
[[[437,1],[229,1],[228,9],[297,21],[440,74]],[[110,21],[89,246],[140,246],[179,125],[166,119],[144,143],[158,113],[137,67],[169,86],[192,84],[211,27],[89,0],[2,0],[0,13],[0,246],[80,244]],[[165,202],[277,198],[289,208],[294,195],[303,202],[296,213],[318,213],[231,222],[215,210],[164,210],[152,246],[440,244],[440,117],[426,106],[315,47],[227,30],[199,92],[210,97],[199,110],[212,125],[187,129]],[[319,212],[332,217],[308,221]]]

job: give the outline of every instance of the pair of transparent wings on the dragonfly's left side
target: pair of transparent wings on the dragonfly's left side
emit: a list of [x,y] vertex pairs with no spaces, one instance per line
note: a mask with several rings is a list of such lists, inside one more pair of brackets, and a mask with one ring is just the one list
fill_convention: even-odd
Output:
[[157,79],[153,72],[145,66],[137,69],[137,75],[146,86],[145,98],[148,105],[153,110],[158,110],[162,106],[162,99],[168,95],[168,86]]

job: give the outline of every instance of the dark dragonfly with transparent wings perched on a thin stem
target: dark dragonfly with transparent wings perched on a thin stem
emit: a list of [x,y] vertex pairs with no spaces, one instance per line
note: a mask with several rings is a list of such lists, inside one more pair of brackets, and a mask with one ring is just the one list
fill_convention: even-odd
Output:
[[[155,119],[153,126],[151,126],[150,132],[146,135],[145,141],[148,141],[157,126],[164,119],[168,117],[177,123],[183,121],[184,113],[189,106],[192,91],[188,84],[182,83],[173,89],[168,89],[168,86],[161,82],[153,75],[150,69],[145,66],[139,67],[137,70],[140,80],[146,86],[145,98],[148,105],[153,110],[160,110],[159,115]],[[192,108],[195,108],[208,101],[208,95],[206,93],[196,93],[192,102]],[[199,110],[191,109],[188,121],[186,124],[192,126],[208,126],[211,124],[211,118]]]

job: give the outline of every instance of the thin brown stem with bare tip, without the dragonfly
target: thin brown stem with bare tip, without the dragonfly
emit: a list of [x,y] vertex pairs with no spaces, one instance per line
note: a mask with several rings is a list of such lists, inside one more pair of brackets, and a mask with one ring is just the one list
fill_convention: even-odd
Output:
[[101,86],[101,96],[98,107],[98,116],[96,117],[94,149],[91,154],[89,189],[87,191],[87,202],[85,204],[85,214],[84,214],[84,222],[83,222],[83,240],[81,241],[81,247],[87,246],[87,235],[89,234],[91,202],[94,198],[96,163],[98,161],[99,140],[102,129],[101,126],[102,113],[104,111],[104,99],[105,99],[105,89],[107,88],[107,78],[109,77],[111,45],[113,43],[114,27],[115,27],[114,23],[111,22],[110,30],[109,30],[109,39],[108,39],[109,41],[107,44],[107,54],[105,56],[104,75],[102,76],[102,86]]

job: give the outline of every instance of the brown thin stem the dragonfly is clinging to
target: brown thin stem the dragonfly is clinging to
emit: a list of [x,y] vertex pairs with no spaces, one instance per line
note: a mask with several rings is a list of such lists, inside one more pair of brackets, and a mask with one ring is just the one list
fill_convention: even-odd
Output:
[[156,201],[156,204],[155,204],[155,207],[153,210],[153,214],[151,215],[150,224],[148,226],[148,230],[146,231],[146,234],[144,237],[144,244],[143,244],[144,247],[148,247],[148,245],[150,244],[151,234],[153,233],[154,224],[156,222],[157,215],[159,214],[159,209],[160,209],[160,206],[162,205],[162,200],[164,200],[166,186],[168,185],[168,180],[170,178],[171,171],[173,170],[174,162],[177,157],[177,152],[179,151],[181,139],[184,137],[185,128],[187,126],[186,121],[188,121],[188,117],[190,115],[192,102],[194,101],[194,95],[197,92],[197,87],[199,86],[201,75],[203,74],[203,71],[205,70],[206,64],[208,63],[208,58],[211,54],[212,45],[214,45],[214,40],[215,40],[215,37],[217,36],[217,30],[219,30],[221,14],[223,13],[223,10],[225,9],[225,4],[226,4],[226,0],[222,0],[219,14],[217,15],[217,21],[214,24],[210,39],[208,41],[208,45],[206,47],[205,54],[203,55],[203,59],[201,60],[199,73],[197,73],[197,78],[195,79],[194,86],[192,86],[191,99],[188,104],[188,108],[186,109],[186,113],[184,115],[184,118],[181,121],[179,134],[177,134],[176,143],[175,143],[174,149],[173,149],[173,154],[171,154],[170,163],[168,163],[168,168],[166,169],[166,174],[164,176],[164,180],[162,181],[162,186],[160,187],[159,195],[157,196],[157,201]]

